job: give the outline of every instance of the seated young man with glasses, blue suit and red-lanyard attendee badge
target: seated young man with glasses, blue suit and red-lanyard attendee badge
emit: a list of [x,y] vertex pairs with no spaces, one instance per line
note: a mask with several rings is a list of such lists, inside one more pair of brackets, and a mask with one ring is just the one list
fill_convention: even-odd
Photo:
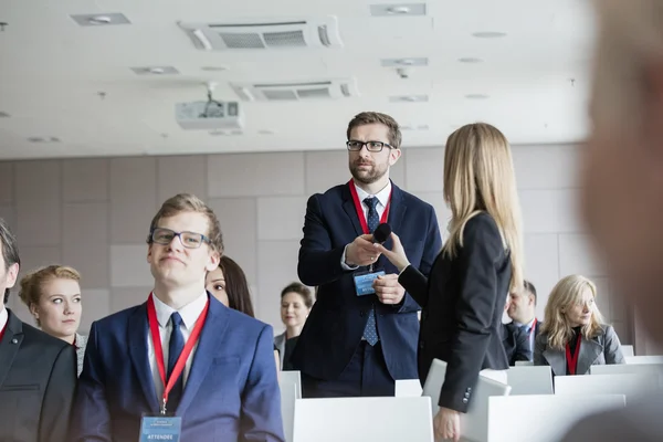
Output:
[[178,194],[147,243],[154,290],[92,325],[69,441],[283,441],[272,327],[204,288],[223,252],[215,214]]

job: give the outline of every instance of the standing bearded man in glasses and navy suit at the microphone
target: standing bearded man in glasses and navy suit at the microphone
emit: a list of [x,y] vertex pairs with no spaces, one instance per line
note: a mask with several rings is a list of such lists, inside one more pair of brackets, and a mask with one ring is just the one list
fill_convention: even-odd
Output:
[[[371,233],[387,221],[427,275],[442,248],[434,209],[389,179],[401,155],[393,118],[361,113],[347,139],[352,179],[312,196],[304,221],[298,275],[318,286],[292,357],[305,397],[393,396],[396,379],[418,377],[420,306]],[[378,270],[386,274],[372,283],[375,294],[358,296],[356,277]]]

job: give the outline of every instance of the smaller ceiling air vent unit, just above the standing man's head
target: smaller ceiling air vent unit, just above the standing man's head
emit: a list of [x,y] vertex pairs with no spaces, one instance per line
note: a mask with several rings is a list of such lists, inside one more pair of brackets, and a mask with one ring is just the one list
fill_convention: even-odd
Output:
[[301,102],[358,96],[354,78],[284,83],[230,83],[248,102]]

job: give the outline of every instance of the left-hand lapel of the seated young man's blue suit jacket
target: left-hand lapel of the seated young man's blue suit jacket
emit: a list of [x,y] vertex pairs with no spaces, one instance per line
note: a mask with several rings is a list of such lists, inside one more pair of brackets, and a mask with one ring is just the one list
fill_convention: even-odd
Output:
[[149,325],[147,323],[147,304],[143,303],[136,312],[129,318],[128,326],[129,343],[129,356],[136,370],[136,376],[143,388],[143,393],[149,408],[152,412],[159,410],[159,402],[157,400],[157,391],[155,388],[155,381],[152,379],[151,369],[149,367],[149,357],[147,348],[147,336]]

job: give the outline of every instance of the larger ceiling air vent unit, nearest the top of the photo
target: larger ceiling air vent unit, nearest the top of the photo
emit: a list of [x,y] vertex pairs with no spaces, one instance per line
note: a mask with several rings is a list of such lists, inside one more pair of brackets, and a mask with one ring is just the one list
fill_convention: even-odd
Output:
[[178,23],[202,51],[340,48],[336,17],[309,20],[252,20]]

